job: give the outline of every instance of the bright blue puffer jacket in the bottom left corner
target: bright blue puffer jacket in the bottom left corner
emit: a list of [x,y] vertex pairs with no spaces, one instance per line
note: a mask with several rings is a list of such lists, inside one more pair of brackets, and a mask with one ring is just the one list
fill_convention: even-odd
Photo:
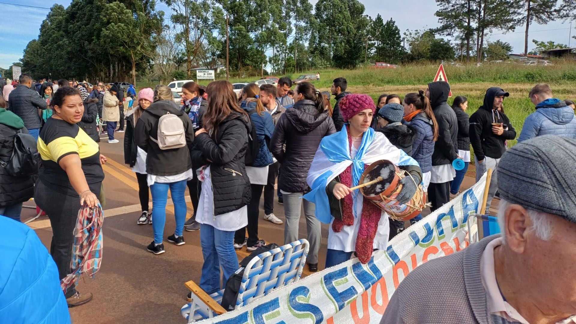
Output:
[[70,323],[58,268],[27,225],[0,216],[0,322]]

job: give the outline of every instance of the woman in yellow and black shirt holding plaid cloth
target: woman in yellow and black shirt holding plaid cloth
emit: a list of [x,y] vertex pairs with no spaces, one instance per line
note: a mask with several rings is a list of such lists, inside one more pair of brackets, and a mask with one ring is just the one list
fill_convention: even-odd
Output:
[[[70,273],[74,242],[74,227],[78,210],[86,204],[98,204],[106,157],[98,144],[77,123],[84,114],[84,104],[78,89],[64,86],[51,101],[53,111],[40,131],[38,151],[42,165],[35,187],[36,204],[50,217],[52,243],[50,254],[60,279]],[[69,306],[92,300],[92,293],[80,295],[75,287],[66,292]]]

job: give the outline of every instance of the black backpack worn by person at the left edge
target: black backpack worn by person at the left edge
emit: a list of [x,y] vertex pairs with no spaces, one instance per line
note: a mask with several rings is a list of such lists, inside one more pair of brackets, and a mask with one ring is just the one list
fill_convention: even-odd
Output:
[[18,133],[14,135],[12,156],[10,160],[2,162],[1,165],[12,176],[37,174],[40,168],[40,153],[38,153],[35,138],[18,130]]

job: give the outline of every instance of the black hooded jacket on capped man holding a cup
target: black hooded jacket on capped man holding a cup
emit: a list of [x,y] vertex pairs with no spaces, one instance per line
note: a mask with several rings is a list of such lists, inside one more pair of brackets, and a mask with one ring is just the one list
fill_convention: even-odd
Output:
[[[484,104],[470,116],[470,142],[478,161],[484,160],[486,156],[500,159],[506,152],[504,142],[516,138],[516,130],[508,117],[503,112],[493,109],[494,97],[501,90],[502,88],[497,86],[489,88],[484,95]],[[502,135],[492,133],[492,123],[502,123],[504,133]]]

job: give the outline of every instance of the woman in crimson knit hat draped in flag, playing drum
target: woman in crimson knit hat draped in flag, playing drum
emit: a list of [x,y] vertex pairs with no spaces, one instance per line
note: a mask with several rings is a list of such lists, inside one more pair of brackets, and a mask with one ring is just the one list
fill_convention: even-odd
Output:
[[388,246],[388,215],[363,199],[359,190],[350,190],[366,167],[389,160],[408,171],[414,180],[408,176],[401,180],[404,186],[396,198],[400,204],[409,201],[416,183],[422,182],[418,163],[370,127],[375,109],[370,96],[344,97],[340,101],[344,127],[322,139],[308,172],[312,191],[304,198],[316,204],[315,214],[322,223],[330,223],[326,268],[347,261],[353,253],[367,263],[373,250]]

